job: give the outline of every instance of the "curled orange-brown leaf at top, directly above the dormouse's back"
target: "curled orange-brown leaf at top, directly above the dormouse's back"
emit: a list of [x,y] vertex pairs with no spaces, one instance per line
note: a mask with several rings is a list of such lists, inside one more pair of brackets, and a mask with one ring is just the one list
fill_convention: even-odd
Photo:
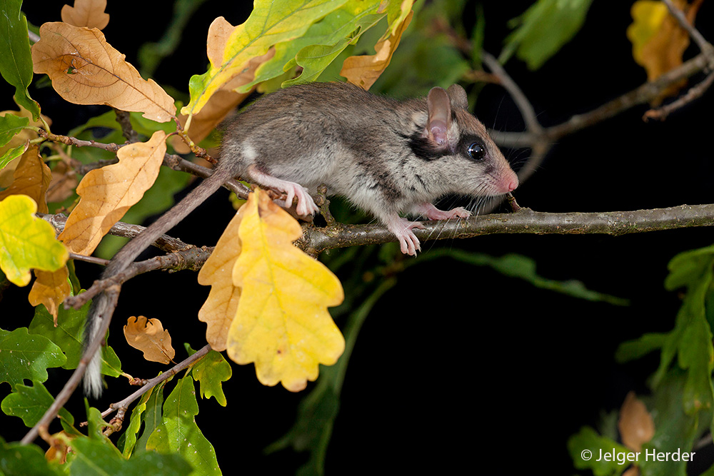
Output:
[[[406,3],[406,2],[405,2]],[[411,3],[409,4],[411,9]],[[382,72],[389,66],[394,51],[399,46],[401,36],[409,26],[414,12],[409,11],[404,20],[393,27],[391,34],[374,46],[376,54],[350,56],[342,64],[340,76],[343,76],[350,83],[356,84],[363,89],[369,89],[379,78]]]

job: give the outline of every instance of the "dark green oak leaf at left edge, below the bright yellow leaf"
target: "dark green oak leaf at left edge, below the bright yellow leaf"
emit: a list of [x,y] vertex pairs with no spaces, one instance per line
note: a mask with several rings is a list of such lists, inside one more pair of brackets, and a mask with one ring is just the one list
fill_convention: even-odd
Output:
[[0,329],[0,383],[15,387],[23,379],[44,382],[47,369],[61,367],[67,358],[48,338],[27,333],[27,328],[12,332]]

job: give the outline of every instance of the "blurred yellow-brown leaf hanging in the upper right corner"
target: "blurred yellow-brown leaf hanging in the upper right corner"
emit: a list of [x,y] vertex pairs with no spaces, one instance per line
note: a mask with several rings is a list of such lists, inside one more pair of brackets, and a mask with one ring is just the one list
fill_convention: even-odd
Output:
[[[686,0],[674,0],[673,3],[685,11],[687,20],[693,24],[701,0],[695,0],[691,5]],[[689,34],[669,14],[667,6],[660,1],[638,0],[633,4],[631,14],[633,24],[628,26],[627,36],[633,45],[633,58],[647,71],[648,81],[680,66],[689,46]],[[653,106],[678,93],[686,83],[686,80],[679,81],[665,89],[652,101]]]

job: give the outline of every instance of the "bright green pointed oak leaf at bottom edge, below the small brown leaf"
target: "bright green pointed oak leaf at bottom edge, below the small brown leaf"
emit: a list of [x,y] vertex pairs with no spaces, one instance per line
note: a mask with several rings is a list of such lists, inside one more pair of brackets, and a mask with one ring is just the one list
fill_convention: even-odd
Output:
[[190,375],[181,378],[164,402],[164,420],[151,433],[147,450],[178,453],[201,475],[219,475],[216,451],[196,425],[198,402]]

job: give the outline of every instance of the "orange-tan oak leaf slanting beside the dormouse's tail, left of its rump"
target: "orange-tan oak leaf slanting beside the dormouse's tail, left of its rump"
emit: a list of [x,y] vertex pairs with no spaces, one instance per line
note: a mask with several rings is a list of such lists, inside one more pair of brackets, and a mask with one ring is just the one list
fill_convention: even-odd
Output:
[[81,200],[59,235],[72,253],[91,255],[101,237],[154,184],[165,153],[166,133],[156,131],[149,141],[120,148],[119,163],[84,176],[77,186]]

